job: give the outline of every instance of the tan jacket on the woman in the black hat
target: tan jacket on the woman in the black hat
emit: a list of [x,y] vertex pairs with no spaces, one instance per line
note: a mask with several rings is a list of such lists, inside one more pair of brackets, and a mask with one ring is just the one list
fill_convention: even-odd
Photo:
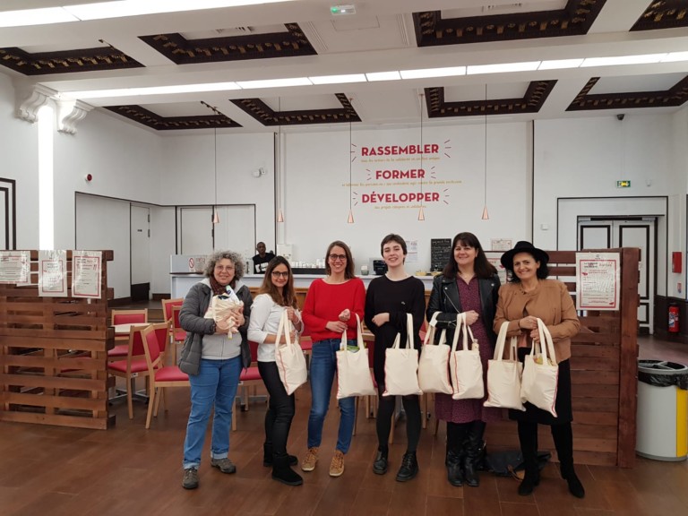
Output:
[[538,287],[525,293],[520,283],[506,283],[499,289],[495,314],[495,333],[509,322],[508,337],[520,334],[519,320],[526,315],[539,317],[552,333],[556,361],[571,357],[571,338],[578,334],[581,323],[566,285],[558,280],[538,280]]

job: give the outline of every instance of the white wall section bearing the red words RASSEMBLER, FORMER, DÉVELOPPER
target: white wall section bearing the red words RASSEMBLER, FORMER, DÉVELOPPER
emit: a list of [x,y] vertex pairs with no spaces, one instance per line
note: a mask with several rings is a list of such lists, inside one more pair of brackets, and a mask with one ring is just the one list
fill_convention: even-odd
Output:
[[[375,171],[385,168],[419,168],[418,159],[391,162],[389,157],[370,157],[361,163],[363,146],[408,145],[419,143],[418,129],[354,131],[352,191],[355,201],[354,224],[348,224],[349,152],[348,131],[336,133],[295,133],[287,136],[285,153],[285,235],[293,245],[297,261],[324,258],[327,245],[340,239],[352,249],[360,265],[380,256],[380,242],[388,233],[417,240],[418,262],[409,271],[430,267],[430,239],[451,238],[471,231],[488,249],[490,238],[521,238],[529,220],[528,202],[507,202],[529,197],[528,124],[490,125],[488,149],[487,205],[489,220],[482,220],[485,155],[484,126],[464,125],[424,129],[424,143],[437,142],[436,159],[424,158],[428,174],[424,192],[441,193],[441,202],[425,203],[425,221],[417,220],[418,203],[364,203],[363,193],[417,192],[418,180],[375,179]],[[400,158],[404,159],[404,158]],[[435,179],[430,177],[433,174]],[[447,192],[444,192],[444,190]],[[444,195],[448,196],[445,197]],[[448,203],[445,203],[448,202]]]

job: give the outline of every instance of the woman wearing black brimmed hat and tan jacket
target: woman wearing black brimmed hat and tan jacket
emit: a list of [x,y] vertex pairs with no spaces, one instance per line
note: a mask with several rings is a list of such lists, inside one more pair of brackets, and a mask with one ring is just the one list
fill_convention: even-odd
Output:
[[522,361],[530,352],[533,339],[538,339],[538,318],[546,324],[555,342],[559,376],[555,409],[557,417],[526,403],[526,411],[510,410],[509,416],[518,421],[520,451],[526,471],[519,486],[519,495],[530,495],[540,482],[538,469],[538,423],[549,425],[555,441],[562,477],[568,482],[572,495],[582,498],[585,489],[573,469],[573,434],[571,428],[571,338],[578,334],[575,305],[566,286],[558,280],[546,280],[549,275],[549,255],[529,242],[518,242],[502,255],[502,265],[512,273],[510,283],[499,290],[495,315],[495,331],[502,323],[509,323],[507,336],[522,334],[529,342],[519,348]]

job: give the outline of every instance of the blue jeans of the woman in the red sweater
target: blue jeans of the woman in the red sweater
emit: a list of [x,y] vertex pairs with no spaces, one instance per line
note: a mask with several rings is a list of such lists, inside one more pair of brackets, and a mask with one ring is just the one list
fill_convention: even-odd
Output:
[[[341,339],[318,340],[311,351],[311,413],[308,416],[308,448],[320,446],[323,441],[323,424],[330,408],[330,394],[334,373],[337,370],[337,350]],[[348,344],[356,345],[355,340]],[[340,432],[337,434],[337,450],[348,452],[351,435],[354,433],[356,399],[343,398],[340,401]]]

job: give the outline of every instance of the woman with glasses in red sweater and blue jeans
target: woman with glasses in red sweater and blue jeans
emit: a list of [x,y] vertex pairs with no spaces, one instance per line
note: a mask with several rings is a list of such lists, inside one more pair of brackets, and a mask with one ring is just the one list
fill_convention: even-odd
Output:
[[[348,344],[356,345],[357,320],[363,317],[366,287],[354,275],[354,259],[348,245],[340,240],[332,242],[325,253],[323,279],[314,280],[308,288],[304,303],[304,323],[313,340],[311,351],[311,412],[308,416],[308,451],[301,469],[313,471],[323,440],[323,424],[334,374],[337,369],[337,351],[341,336],[347,332]],[[340,405],[340,429],[337,446],[330,463],[330,476],[340,477],[344,472],[344,455],[351,445],[356,417],[356,399],[343,398]]]

